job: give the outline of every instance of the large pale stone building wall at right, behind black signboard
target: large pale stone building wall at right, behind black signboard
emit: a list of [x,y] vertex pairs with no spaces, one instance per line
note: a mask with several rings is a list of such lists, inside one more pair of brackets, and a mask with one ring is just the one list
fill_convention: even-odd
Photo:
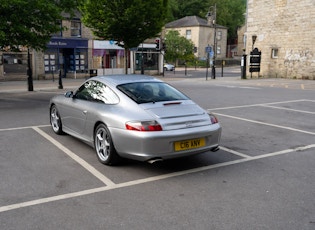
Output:
[[250,52],[261,51],[253,77],[315,80],[314,0],[247,0],[245,38],[248,67]]

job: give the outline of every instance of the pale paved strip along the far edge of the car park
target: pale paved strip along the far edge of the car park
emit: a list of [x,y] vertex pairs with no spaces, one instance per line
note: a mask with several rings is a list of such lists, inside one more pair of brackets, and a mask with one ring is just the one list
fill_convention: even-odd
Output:
[[[223,84],[230,85],[251,85],[251,86],[267,86],[267,87],[280,87],[289,89],[303,89],[303,90],[315,90],[314,80],[301,80],[301,79],[283,79],[283,78],[253,78],[253,79],[241,79],[240,68],[238,66],[227,67],[224,70],[224,77],[221,77],[221,70],[217,68],[216,78],[211,78],[211,71],[209,69],[207,78],[205,69],[176,68],[176,71],[166,71],[164,76],[155,76],[163,81],[178,81],[178,80],[192,80],[192,81],[213,81],[221,82]],[[86,78],[63,78],[62,89],[59,89],[59,81],[55,79],[50,80],[33,80],[33,91],[60,91],[66,92],[76,89],[80,86]],[[23,81],[0,81],[0,93],[9,92],[27,92],[28,82],[27,79]]]

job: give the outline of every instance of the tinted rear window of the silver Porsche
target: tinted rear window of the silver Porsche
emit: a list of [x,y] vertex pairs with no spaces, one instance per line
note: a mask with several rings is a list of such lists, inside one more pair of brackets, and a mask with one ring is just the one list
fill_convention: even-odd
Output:
[[164,82],[133,82],[118,85],[117,88],[138,104],[189,99]]

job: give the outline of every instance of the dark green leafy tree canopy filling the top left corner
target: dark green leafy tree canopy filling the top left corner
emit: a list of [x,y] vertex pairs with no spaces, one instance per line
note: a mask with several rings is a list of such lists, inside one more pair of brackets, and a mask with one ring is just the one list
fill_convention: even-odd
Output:
[[0,0],[0,47],[46,48],[60,31],[61,12],[71,12],[75,0]]

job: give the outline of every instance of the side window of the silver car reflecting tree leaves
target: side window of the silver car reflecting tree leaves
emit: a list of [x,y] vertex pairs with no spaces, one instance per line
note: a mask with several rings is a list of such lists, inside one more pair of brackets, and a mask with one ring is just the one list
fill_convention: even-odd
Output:
[[87,81],[76,92],[75,98],[105,104],[117,104],[118,96],[105,84],[99,81]]

